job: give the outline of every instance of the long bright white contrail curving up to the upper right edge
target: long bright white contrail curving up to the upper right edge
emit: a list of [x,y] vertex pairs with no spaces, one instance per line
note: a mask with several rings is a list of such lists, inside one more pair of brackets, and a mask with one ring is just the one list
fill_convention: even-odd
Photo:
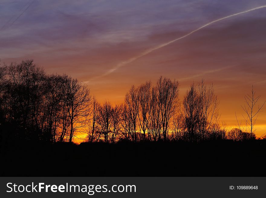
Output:
[[[182,36],[182,37],[179,37],[179,38],[177,38],[177,39],[175,39],[175,40],[171,40],[171,41],[169,41],[169,42],[167,42],[167,43],[163,43],[163,44],[158,45],[158,46],[156,46],[156,47],[150,48],[150,49],[144,51],[143,53],[141,53],[141,54],[138,55],[138,56],[135,56],[135,57],[133,57],[133,58],[131,58],[131,59],[128,59],[128,60],[123,61],[123,62],[120,62],[119,64],[117,64],[115,67],[113,67],[112,69],[108,70],[108,71],[105,72],[104,74],[102,74],[102,75],[100,75],[100,76],[96,76],[96,77],[94,77],[94,78],[92,78],[92,79],[100,78],[100,77],[106,76],[106,75],[108,75],[108,74],[111,74],[112,72],[114,72],[114,71],[117,70],[118,68],[120,68],[120,67],[122,67],[122,66],[124,66],[124,65],[126,65],[126,64],[128,64],[128,63],[130,63],[130,62],[133,62],[133,61],[135,61],[136,59],[139,59],[139,58],[141,58],[142,56],[145,56],[145,55],[151,53],[152,51],[154,51],[154,50],[156,50],[156,49],[162,48],[162,47],[164,47],[164,46],[167,46],[167,45],[169,45],[169,44],[171,44],[171,43],[176,42],[177,40],[183,39],[183,38],[189,36],[190,34],[193,34],[194,32],[196,32],[196,31],[198,31],[198,30],[200,30],[200,29],[202,29],[202,28],[204,28],[204,27],[206,27],[206,26],[208,26],[208,25],[210,25],[210,24],[216,23],[216,22],[218,22],[218,21],[222,21],[222,20],[224,20],[224,19],[227,19],[227,18],[230,18],[230,17],[236,16],[236,15],[238,15],[238,14],[243,14],[243,13],[250,12],[250,11],[253,11],[253,10],[258,10],[258,9],[261,9],[261,8],[266,8],[266,5],[262,5],[262,6],[259,6],[259,7],[256,7],[256,8],[252,8],[252,9],[249,9],[249,10],[246,10],[246,11],[238,12],[238,13],[236,13],[236,14],[231,14],[231,15],[229,15],[229,16],[226,16],[226,17],[223,17],[223,18],[219,18],[219,19],[217,19],[217,20],[215,20],[215,21],[211,21],[211,22],[209,22],[209,23],[207,23],[207,24],[205,24],[205,25],[199,27],[198,29],[191,31],[191,32],[188,33],[188,34],[185,34],[185,35]],[[91,80],[92,80],[92,79],[91,79]],[[89,81],[87,81],[87,82],[89,82]]]

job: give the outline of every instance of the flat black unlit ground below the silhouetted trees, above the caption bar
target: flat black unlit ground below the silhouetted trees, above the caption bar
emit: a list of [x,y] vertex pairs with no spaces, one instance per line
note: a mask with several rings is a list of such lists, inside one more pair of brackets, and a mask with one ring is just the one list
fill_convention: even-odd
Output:
[[266,141],[1,145],[1,176],[266,176]]

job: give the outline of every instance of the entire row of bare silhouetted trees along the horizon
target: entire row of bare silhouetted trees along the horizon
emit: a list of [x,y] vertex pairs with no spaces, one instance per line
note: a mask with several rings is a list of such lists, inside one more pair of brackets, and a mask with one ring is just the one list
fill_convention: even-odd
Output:
[[221,124],[219,100],[204,79],[193,82],[182,100],[178,81],[160,77],[155,86],[133,85],[121,104],[100,104],[83,82],[49,75],[25,60],[2,65],[0,84],[0,125],[10,139],[72,142],[77,133],[107,143],[251,139]]

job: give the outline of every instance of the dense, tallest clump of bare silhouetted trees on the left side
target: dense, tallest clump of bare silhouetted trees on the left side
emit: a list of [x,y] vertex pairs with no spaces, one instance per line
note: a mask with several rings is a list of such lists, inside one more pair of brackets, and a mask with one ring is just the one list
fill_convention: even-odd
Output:
[[84,83],[48,75],[33,60],[3,65],[0,77],[0,122],[11,138],[72,142],[85,126],[91,96]]

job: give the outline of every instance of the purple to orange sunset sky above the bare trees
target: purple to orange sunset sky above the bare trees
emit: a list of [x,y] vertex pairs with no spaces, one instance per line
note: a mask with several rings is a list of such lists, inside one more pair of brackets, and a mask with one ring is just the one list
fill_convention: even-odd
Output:
[[[263,5],[265,0],[0,0],[0,58],[34,59],[48,73],[67,73],[87,83],[101,102],[122,102],[131,85],[155,84],[160,75],[180,82],[182,100],[193,81],[205,78],[220,99],[221,120],[235,126],[252,85],[259,103],[266,100],[266,7],[216,20]],[[266,110],[255,128],[258,136],[266,132]]]

